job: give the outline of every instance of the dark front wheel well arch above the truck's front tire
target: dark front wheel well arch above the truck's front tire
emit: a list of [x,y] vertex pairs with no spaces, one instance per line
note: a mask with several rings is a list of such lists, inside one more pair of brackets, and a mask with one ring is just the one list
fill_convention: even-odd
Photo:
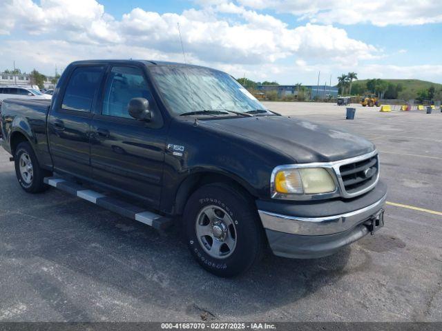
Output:
[[189,177],[184,179],[180,184],[180,188],[177,190],[175,197],[175,214],[182,214],[186,202],[193,192],[198,190],[203,185],[210,183],[227,183],[243,194],[248,194],[253,199],[256,199],[256,194],[253,194],[251,190],[247,189],[244,185],[238,181],[232,179],[225,174],[218,174],[215,172],[199,172],[196,174],[191,174]]

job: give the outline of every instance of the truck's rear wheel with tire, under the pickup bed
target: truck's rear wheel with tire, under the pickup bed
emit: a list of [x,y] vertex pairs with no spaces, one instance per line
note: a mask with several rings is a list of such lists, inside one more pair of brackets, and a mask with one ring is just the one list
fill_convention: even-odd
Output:
[[19,143],[15,150],[14,160],[15,173],[23,190],[28,193],[39,193],[49,188],[44,183],[44,177],[48,177],[50,172],[41,169],[30,143]]

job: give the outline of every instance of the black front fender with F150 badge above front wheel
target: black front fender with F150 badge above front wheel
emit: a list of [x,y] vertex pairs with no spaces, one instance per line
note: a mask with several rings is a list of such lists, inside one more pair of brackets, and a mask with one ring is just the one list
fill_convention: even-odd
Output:
[[[162,185],[162,211],[173,210],[180,185],[195,174],[218,174],[235,181],[254,197],[269,199],[271,171],[287,164],[285,154],[265,144],[230,132],[221,132],[201,123],[174,121],[168,146],[182,152],[166,151]],[[198,176],[196,176],[198,177]]]

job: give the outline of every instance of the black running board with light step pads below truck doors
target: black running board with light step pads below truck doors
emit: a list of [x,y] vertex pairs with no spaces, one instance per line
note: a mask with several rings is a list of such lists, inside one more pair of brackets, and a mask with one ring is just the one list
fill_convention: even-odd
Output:
[[172,225],[172,219],[149,212],[148,210],[125,201],[113,197],[106,197],[106,195],[102,193],[85,189],[81,185],[67,181],[66,179],[61,179],[59,177],[45,177],[44,183],[68,194],[72,194],[75,197],[95,203],[100,207],[116,212],[129,219],[135,219],[135,221],[150,225],[157,230],[165,230]]

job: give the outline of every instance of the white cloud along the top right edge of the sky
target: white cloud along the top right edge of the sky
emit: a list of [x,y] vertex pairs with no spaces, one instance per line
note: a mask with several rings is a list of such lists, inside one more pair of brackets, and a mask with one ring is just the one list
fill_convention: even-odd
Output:
[[[202,2],[210,5],[209,1]],[[238,0],[238,3],[257,10],[288,12],[311,23],[412,26],[442,22],[440,0]]]

